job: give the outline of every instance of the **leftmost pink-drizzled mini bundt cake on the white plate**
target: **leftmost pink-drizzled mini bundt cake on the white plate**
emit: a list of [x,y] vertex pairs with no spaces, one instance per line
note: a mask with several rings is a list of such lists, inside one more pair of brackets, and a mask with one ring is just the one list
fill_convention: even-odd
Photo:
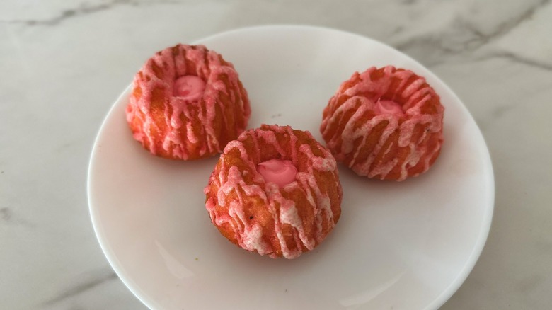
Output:
[[167,159],[213,156],[245,130],[251,108],[230,62],[202,45],[157,52],[134,76],[127,105],[134,139]]

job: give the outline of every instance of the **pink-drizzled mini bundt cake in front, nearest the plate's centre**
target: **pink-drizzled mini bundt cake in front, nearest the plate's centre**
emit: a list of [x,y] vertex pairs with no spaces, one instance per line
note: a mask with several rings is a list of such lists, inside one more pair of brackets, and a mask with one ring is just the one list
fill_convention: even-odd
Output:
[[262,125],[224,148],[205,195],[211,222],[229,241],[297,258],[332,231],[343,192],[335,159],[309,132]]

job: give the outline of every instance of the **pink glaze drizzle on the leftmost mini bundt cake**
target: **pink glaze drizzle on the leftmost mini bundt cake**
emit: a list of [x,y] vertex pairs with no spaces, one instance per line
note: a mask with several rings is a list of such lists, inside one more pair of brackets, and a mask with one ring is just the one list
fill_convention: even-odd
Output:
[[[156,70],[161,70],[162,76],[156,74]],[[174,89],[180,86],[176,77],[190,75],[197,76],[197,79],[205,84],[205,89],[201,91],[202,96],[199,96],[199,91],[195,95],[175,96],[175,93],[180,92],[180,89]],[[199,84],[197,80],[195,83]],[[234,119],[238,119],[237,115],[243,115],[245,121],[235,124],[238,134],[245,130],[251,115],[247,93],[241,88],[241,82],[232,64],[223,63],[217,52],[209,51],[202,45],[177,45],[157,52],[154,57],[148,59],[139,74],[134,76],[133,86],[134,89],[140,88],[142,95],[139,98],[130,96],[127,122],[132,122],[134,118],[142,122],[142,130],[134,132],[134,139],[143,145],[149,145],[152,154],[158,154],[159,147],[162,147],[175,158],[188,159],[190,146],[199,152],[200,156],[215,154],[224,147],[219,144],[214,129],[217,108],[221,111],[234,109]],[[166,133],[161,130],[150,112],[154,91],[163,92],[164,122],[168,128]],[[224,102],[219,100],[222,95],[227,96],[234,106],[225,106]],[[183,122],[182,116],[188,121]],[[223,117],[222,123],[226,124],[226,115],[223,114]],[[197,118],[200,120],[199,128],[192,126],[191,120]],[[163,132],[161,146],[156,144],[153,132]],[[185,137],[180,132],[185,132]]]

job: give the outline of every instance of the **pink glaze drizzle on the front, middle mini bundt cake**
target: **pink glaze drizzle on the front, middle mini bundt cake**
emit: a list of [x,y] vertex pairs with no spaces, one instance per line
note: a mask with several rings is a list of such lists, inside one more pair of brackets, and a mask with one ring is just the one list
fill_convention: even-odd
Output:
[[[330,198],[328,197],[328,193],[323,193],[318,183],[316,183],[314,171],[330,173],[330,176],[335,178],[335,186],[338,187],[338,192],[341,193],[337,165],[330,152],[320,144],[318,144],[318,149],[323,153],[322,157],[315,156],[309,144],[301,144],[298,148],[289,148],[289,145],[280,145],[277,139],[275,139],[275,132],[284,132],[288,135],[287,137],[289,137],[289,144],[292,146],[296,144],[297,137],[293,133],[291,127],[267,127],[268,126],[261,127],[261,129],[258,130],[243,132],[238,140],[234,140],[226,145],[224,154],[222,154],[219,161],[222,163],[222,166],[218,171],[215,170],[209,179],[209,185],[214,184],[219,188],[216,194],[218,198],[215,200],[214,197],[207,195],[206,208],[214,224],[221,226],[227,223],[234,229],[238,245],[241,246],[241,248],[248,251],[257,251],[260,255],[268,255],[272,258],[276,258],[275,249],[263,239],[263,233],[260,231],[261,227],[257,224],[251,224],[251,222],[246,219],[245,210],[243,209],[243,206],[246,205],[243,195],[258,197],[263,201],[263,204],[266,205],[268,211],[272,215],[274,229],[280,243],[282,255],[284,258],[297,258],[303,252],[301,245],[308,251],[311,251],[318,243],[326,238],[326,234],[322,231],[322,222],[324,220],[326,220],[332,228],[335,225]],[[307,132],[307,134],[312,138],[310,133]],[[246,149],[243,145],[243,141],[248,138],[253,139],[255,144],[254,149]],[[282,157],[289,159],[294,167],[297,166],[298,154],[306,155],[308,158],[308,165],[303,169],[297,167],[299,171],[297,171],[295,176],[296,180],[288,183],[283,188],[277,185],[277,183],[265,182],[263,176],[257,171],[255,164],[255,162],[258,162],[260,159],[261,150],[257,147],[259,140],[262,140],[263,143],[272,145],[275,149],[280,149],[282,151]],[[291,149],[291,151],[286,151],[286,149]],[[239,171],[236,166],[226,166],[224,156],[234,150],[238,150],[241,154],[241,160],[248,163],[248,168],[246,170]],[[246,183],[243,178],[243,176],[248,175],[248,173],[253,173],[253,184]],[[314,214],[316,214],[314,237],[305,234],[304,222],[297,213],[296,203],[282,196],[282,192],[291,192],[297,189],[301,190],[305,197],[307,197],[309,201],[308,207],[314,208]],[[208,193],[209,186],[205,188],[205,194]],[[237,194],[237,200],[228,199],[231,193]],[[217,205],[227,208],[228,212],[221,212],[219,208],[217,208]],[[289,224],[294,228],[293,238],[297,245],[297,249],[291,249],[287,246],[284,236],[282,235],[282,225],[284,224]]]

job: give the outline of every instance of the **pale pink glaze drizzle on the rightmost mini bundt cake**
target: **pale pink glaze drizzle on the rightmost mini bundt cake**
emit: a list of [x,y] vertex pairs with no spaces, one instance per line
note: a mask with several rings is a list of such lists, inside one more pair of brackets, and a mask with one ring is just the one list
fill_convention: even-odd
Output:
[[[394,67],[389,66],[384,68],[384,76],[381,79],[372,81],[370,74],[376,70],[376,67],[372,67],[362,74],[355,72],[350,80],[361,79],[360,83],[350,88],[347,88],[345,83],[340,86],[338,95],[330,99],[328,107],[337,105],[341,94],[350,98],[338,106],[332,115],[328,115],[328,117],[322,120],[321,133],[326,139],[328,148],[333,149],[333,155],[338,161],[343,161],[347,154],[354,151],[352,160],[347,163],[353,171],[361,176],[368,176],[369,178],[379,176],[381,179],[384,179],[397,166],[398,159],[388,161],[379,166],[372,166],[372,163],[376,155],[379,154],[386,144],[389,136],[393,132],[398,132],[398,147],[407,147],[410,150],[408,158],[400,167],[400,177],[398,180],[404,180],[408,177],[408,169],[418,165],[421,159],[423,159],[422,172],[427,171],[430,168],[430,159],[441,149],[444,108],[442,105],[439,105],[435,114],[421,112],[420,108],[432,96],[437,96],[430,86],[424,86],[425,79],[421,76],[417,76],[415,81],[410,81],[410,84],[406,86],[409,79],[415,76],[412,71],[395,71]],[[381,100],[381,97],[389,91],[392,79],[400,81],[397,89],[402,89],[404,86],[406,88],[402,93],[394,94],[391,100]],[[367,98],[363,95],[365,93],[374,93],[374,96]],[[396,98],[399,96],[408,98],[402,108],[396,103]],[[401,113],[398,113],[398,109],[401,109]],[[342,120],[343,115],[347,115],[348,113],[352,113],[352,117],[348,120],[343,132],[327,137],[326,134],[330,131],[330,128],[337,126],[338,122]],[[359,119],[368,113],[375,113],[375,115],[368,122],[359,125],[361,123]],[[366,160],[357,161],[362,147],[356,147],[355,149],[355,141],[361,139],[360,146],[366,144],[369,132],[382,121],[389,123],[385,127],[381,137],[379,137],[376,147]],[[422,133],[422,137],[413,141],[414,128],[418,124],[422,125],[425,130]],[[427,141],[432,134],[438,135],[439,143],[433,144],[432,147],[426,143],[419,143],[420,141]],[[341,147],[339,149],[338,145],[340,142]],[[389,149],[384,151],[386,153]]]

